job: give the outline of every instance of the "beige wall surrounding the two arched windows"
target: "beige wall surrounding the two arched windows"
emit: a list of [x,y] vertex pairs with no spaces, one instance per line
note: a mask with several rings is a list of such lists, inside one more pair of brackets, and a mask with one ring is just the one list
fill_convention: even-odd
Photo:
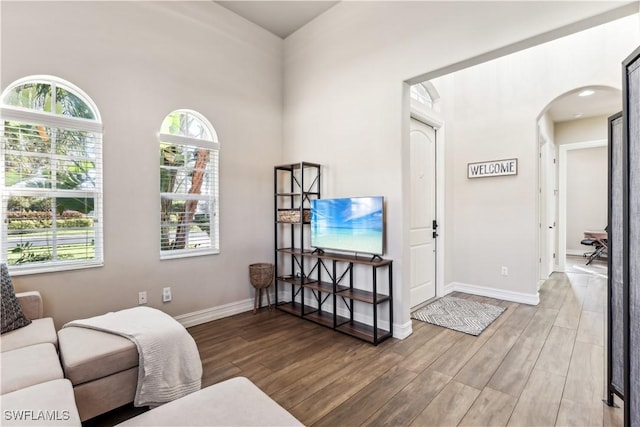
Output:
[[[2,2],[4,89],[51,74],[104,122],[104,267],[15,277],[60,326],[137,304],[171,315],[252,307],[248,264],[273,260],[273,165],[281,158],[282,40],[214,2]],[[202,113],[220,150],[220,250],[160,261],[157,132]],[[173,302],[161,303],[171,286]]]

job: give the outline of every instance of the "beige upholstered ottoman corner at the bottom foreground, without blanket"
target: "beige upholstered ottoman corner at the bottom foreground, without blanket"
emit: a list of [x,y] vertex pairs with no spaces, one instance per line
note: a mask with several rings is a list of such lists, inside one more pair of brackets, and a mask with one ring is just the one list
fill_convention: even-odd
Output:
[[165,403],[120,426],[302,426],[251,381],[236,377]]

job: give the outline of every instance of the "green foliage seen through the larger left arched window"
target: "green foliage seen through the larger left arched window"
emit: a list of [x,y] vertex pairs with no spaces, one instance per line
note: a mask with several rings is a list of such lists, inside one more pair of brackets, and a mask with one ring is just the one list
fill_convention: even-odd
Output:
[[[2,103],[35,112],[96,120],[85,101],[64,87],[50,83],[18,85],[4,94]],[[4,218],[8,262],[93,259],[96,199],[91,194],[101,179],[97,169],[99,135],[34,122],[4,122],[5,181],[2,184],[11,194]],[[58,191],[89,195],[59,197]],[[68,233],[74,242],[62,245],[58,235]]]

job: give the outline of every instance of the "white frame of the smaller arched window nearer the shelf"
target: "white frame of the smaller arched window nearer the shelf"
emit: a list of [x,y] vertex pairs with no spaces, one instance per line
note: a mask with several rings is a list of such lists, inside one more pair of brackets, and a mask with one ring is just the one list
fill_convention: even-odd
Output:
[[[190,196],[188,193],[173,193],[173,192],[162,192],[162,188],[159,188],[159,205],[162,206],[162,200],[165,198],[175,199],[175,200],[208,200],[210,203],[209,209],[209,238],[211,242],[211,246],[209,248],[184,248],[184,249],[162,249],[162,228],[164,227],[162,220],[162,212],[160,212],[160,260],[168,260],[168,259],[177,259],[177,258],[190,258],[195,256],[205,256],[205,255],[217,255],[220,253],[220,143],[218,141],[218,135],[215,131],[215,128],[211,123],[199,112],[191,110],[191,109],[177,109],[171,111],[169,114],[165,116],[161,123],[164,124],[165,120],[172,116],[173,114],[180,113],[185,114],[187,116],[192,116],[197,119],[200,124],[206,127],[207,131],[211,135],[211,139],[202,139],[202,138],[194,138],[190,136],[184,135],[176,135],[171,133],[158,132],[158,150],[161,149],[162,144],[169,143],[173,145],[180,145],[181,147],[193,147],[193,148],[201,148],[209,150],[210,153],[210,167],[211,167],[211,177],[209,181],[209,185],[211,187],[211,194],[208,195],[199,195],[200,197]],[[160,154],[160,153],[159,153]],[[159,172],[162,171],[162,164],[159,165]],[[160,176],[159,176],[160,178]],[[160,179],[158,180],[158,185],[160,186]]]

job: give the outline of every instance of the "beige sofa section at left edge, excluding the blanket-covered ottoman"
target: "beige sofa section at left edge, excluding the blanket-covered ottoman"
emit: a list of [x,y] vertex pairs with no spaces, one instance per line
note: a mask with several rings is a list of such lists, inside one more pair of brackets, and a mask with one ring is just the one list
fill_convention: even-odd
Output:
[[73,387],[58,359],[53,319],[43,318],[38,292],[16,297],[31,324],[0,338],[0,424],[80,426]]

